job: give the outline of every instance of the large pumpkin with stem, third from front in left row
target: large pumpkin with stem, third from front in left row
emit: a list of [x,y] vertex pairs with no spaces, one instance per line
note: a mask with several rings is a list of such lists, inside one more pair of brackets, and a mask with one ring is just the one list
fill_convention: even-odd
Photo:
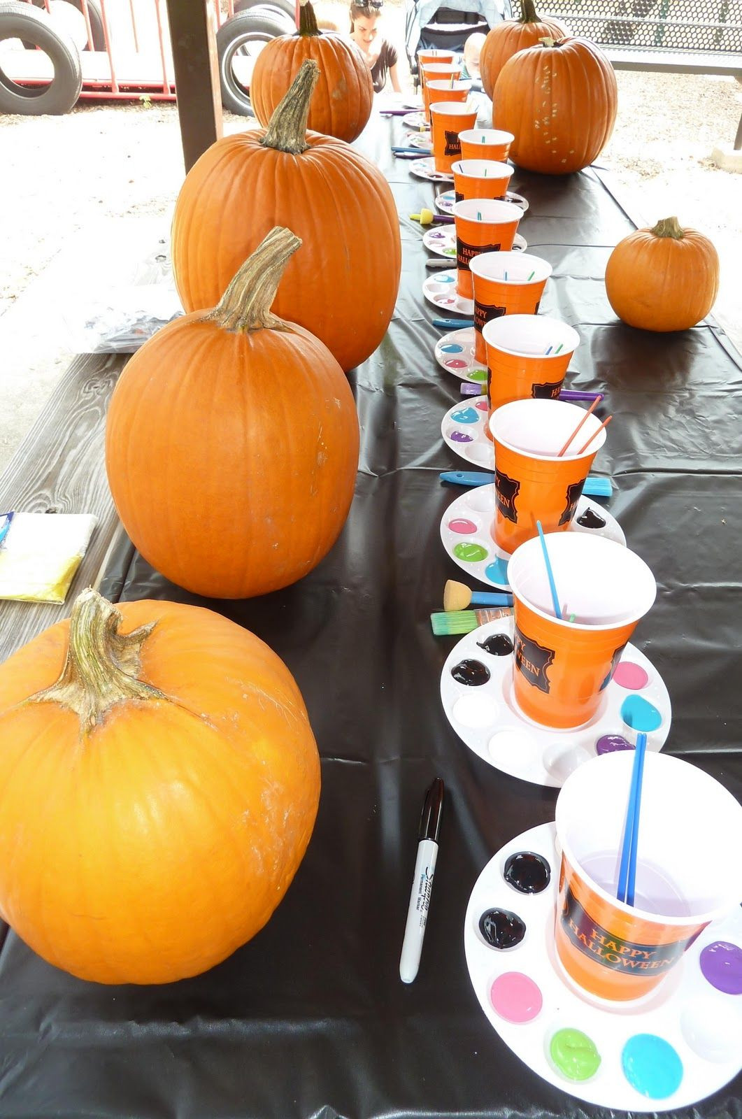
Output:
[[317,63],[306,62],[267,131],[217,140],[176,203],[172,266],[187,311],[214,307],[275,225],[301,237],[273,310],[353,369],[386,333],[400,286],[400,219],[378,170],[341,140],[306,131]]

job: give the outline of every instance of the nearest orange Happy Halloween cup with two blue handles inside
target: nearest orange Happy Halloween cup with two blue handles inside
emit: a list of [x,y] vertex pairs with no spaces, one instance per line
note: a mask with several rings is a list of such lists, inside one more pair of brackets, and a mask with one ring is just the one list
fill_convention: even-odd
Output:
[[742,863],[718,857],[742,848],[742,808],[703,770],[648,750],[635,905],[617,901],[632,763],[628,750],[593,758],[556,800],[557,958],[583,990],[614,1003],[649,994],[742,896]]

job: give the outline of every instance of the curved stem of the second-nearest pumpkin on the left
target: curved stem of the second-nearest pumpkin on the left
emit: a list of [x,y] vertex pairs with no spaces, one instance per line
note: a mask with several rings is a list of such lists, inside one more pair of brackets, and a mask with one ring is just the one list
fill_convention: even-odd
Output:
[[223,330],[289,330],[289,326],[271,314],[271,305],[287,266],[301,241],[276,225],[248,256],[229,286],[206,318],[218,322]]

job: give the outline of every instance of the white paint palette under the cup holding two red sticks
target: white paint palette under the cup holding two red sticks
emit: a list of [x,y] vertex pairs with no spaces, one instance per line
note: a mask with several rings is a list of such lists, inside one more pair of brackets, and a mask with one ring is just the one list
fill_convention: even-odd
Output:
[[[462,408],[467,406],[460,405]],[[475,486],[452,501],[443,514],[441,540],[448,555],[466,571],[469,579],[478,579],[498,591],[509,591],[509,556],[490,536],[494,519],[495,483]],[[577,501],[569,532],[593,533],[626,545],[626,536],[616,517],[586,497]]]

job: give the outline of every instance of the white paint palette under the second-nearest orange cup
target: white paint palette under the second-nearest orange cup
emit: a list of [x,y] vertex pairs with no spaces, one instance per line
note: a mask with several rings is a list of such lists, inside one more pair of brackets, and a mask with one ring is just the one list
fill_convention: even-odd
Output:
[[[636,646],[629,642],[623,650],[595,716],[569,731],[552,730],[523,714],[513,694],[511,649],[513,618],[499,618],[467,633],[449,653],[441,673],[441,700],[448,721],[489,765],[522,781],[561,788],[570,773],[595,754],[633,749],[636,731],[642,727],[632,730],[624,715],[630,713],[632,724],[640,722],[637,711],[645,718],[642,725],[655,726],[647,731],[647,749],[663,749],[671,722],[669,695]],[[482,683],[461,683],[469,676]]]

